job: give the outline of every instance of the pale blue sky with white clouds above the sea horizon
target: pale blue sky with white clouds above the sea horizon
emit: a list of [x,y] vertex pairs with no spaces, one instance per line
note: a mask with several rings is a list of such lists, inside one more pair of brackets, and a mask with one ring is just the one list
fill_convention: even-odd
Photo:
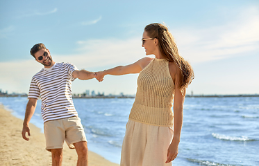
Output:
[[[28,93],[40,71],[29,50],[44,43],[55,62],[101,71],[145,56],[144,26],[164,23],[194,68],[194,94],[259,93],[259,1],[0,1],[0,89]],[[73,83],[135,94],[137,75]]]

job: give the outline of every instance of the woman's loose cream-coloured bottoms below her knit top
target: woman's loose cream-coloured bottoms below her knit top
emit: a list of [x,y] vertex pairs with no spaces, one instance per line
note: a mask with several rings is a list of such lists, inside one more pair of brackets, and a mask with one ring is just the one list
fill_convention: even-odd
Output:
[[121,166],[169,166],[167,149],[172,127],[160,127],[128,120],[122,145]]

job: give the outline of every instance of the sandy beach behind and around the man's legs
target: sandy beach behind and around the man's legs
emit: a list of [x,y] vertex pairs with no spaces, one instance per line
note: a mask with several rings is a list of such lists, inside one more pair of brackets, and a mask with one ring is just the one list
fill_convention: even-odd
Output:
[[[0,105],[0,165],[51,165],[51,153],[45,150],[44,133],[35,125],[29,124],[30,140],[24,140],[22,122]],[[88,159],[90,166],[118,166],[92,151],[89,151]],[[76,160],[76,150],[69,149],[64,144],[62,165],[76,165]]]

